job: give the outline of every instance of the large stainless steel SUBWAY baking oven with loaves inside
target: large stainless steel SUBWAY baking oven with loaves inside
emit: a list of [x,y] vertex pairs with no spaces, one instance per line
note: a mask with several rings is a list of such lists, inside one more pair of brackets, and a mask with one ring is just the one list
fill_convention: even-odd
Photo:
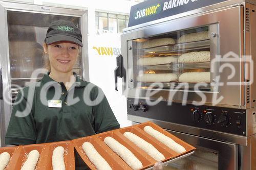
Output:
[[151,120],[198,148],[172,168],[256,169],[255,5],[152,0],[132,7],[115,76],[133,124]]

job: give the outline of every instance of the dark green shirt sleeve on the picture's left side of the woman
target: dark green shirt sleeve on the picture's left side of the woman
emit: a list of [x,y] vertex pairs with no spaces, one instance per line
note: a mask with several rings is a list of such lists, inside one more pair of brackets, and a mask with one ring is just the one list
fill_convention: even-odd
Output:
[[[12,109],[5,144],[26,145],[36,143],[37,133],[31,105],[21,93],[17,94],[15,102],[18,103]],[[17,111],[24,114],[17,114]]]

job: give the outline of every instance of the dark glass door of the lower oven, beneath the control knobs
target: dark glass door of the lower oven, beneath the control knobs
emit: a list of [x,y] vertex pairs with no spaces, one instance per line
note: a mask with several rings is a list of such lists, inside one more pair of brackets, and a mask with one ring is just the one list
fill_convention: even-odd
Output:
[[233,170],[238,169],[236,144],[167,130],[197,148],[193,155],[169,163],[164,169]]

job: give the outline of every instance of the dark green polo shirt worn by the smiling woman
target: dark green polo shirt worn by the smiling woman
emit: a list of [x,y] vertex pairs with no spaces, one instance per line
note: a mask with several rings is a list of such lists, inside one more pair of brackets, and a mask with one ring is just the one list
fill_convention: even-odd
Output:
[[[102,90],[75,77],[76,82],[68,91],[49,75],[21,90],[13,106],[5,143],[72,140],[120,128]],[[48,107],[48,100],[61,101],[61,108]]]

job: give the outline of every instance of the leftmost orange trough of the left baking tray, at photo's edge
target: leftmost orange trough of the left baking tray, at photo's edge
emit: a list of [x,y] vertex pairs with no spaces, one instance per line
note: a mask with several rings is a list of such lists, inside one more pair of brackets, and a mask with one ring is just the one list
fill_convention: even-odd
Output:
[[8,152],[10,154],[10,160],[5,168],[5,170],[10,170],[13,169],[12,167],[15,166],[17,159],[18,159],[18,153],[20,147],[4,147],[4,148],[0,148],[0,154],[2,154],[3,152]]

